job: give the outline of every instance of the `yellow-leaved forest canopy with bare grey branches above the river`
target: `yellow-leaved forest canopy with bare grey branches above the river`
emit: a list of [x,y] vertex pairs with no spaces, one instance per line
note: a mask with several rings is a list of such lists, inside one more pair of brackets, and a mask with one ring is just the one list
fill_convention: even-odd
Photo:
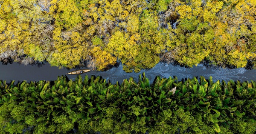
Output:
[[256,65],[256,0],[0,0],[0,60]]

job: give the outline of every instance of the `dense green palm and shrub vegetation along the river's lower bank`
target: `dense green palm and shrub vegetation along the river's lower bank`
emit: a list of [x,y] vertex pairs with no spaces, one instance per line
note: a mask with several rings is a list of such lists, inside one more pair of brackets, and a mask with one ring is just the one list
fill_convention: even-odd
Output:
[[0,134],[253,134],[255,109],[255,81],[0,81]]

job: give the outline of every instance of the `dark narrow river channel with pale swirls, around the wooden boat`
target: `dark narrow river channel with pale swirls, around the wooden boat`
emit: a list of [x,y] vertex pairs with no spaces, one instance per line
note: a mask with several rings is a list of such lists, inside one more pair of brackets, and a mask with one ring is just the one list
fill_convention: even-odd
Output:
[[[82,68],[79,68],[82,69]],[[67,75],[69,79],[76,78],[76,75],[66,74],[70,71],[74,71],[76,69],[59,69],[58,67],[51,67],[49,63],[45,63],[45,65],[38,67],[32,65],[23,65],[19,63],[12,63],[8,65],[0,64],[0,80],[6,80],[9,83],[11,80],[23,81],[27,82],[39,81],[39,80],[56,80],[58,76]],[[138,77],[140,74],[145,72],[146,77],[150,80],[150,82],[154,81],[156,76],[160,77],[173,77],[177,76],[179,80],[185,78],[193,78],[195,76],[204,76],[206,79],[209,76],[212,76],[213,80],[225,80],[228,81],[230,79],[233,80],[256,80],[256,70],[247,70],[245,68],[217,68],[217,67],[206,67],[202,64],[198,66],[194,66],[193,68],[185,68],[180,66],[174,66],[166,63],[158,63],[154,68],[149,70],[142,70],[139,73],[125,73],[122,70],[122,66],[117,68],[112,68],[108,71],[90,71],[85,74],[81,74],[82,77],[88,75],[102,76],[104,79],[110,80],[111,83],[122,83],[124,79],[128,79],[130,77],[134,77],[135,81],[138,81]]]

